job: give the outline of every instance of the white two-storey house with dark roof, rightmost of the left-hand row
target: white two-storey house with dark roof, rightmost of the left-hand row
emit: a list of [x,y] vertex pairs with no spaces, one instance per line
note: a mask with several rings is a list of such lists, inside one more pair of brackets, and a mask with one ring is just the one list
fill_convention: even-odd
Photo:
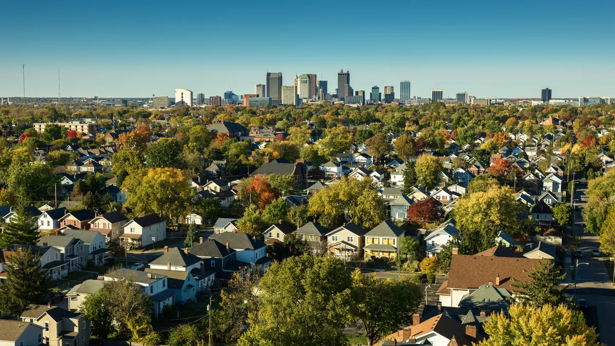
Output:
[[146,246],[167,238],[167,222],[158,214],[149,214],[132,219],[124,225],[119,236],[121,244],[128,247]]

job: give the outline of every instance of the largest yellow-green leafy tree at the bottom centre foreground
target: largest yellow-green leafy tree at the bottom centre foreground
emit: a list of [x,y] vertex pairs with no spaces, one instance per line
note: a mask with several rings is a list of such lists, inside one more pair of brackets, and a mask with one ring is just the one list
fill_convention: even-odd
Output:
[[260,281],[261,304],[237,345],[346,345],[351,274],[332,256],[274,262]]

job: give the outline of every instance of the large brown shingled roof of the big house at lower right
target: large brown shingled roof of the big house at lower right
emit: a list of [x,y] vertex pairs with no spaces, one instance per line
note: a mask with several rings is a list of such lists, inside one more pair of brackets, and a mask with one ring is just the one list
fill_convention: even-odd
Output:
[[499,276],[497,287],[512,290],[512,278],[518,281],[528,280],[528,275],[523,270],[533,272],[534,265],[540,261],[525,257],[453,255],[447,286],[451,289],[477,289],[490,281],[495,283],[496,276]]

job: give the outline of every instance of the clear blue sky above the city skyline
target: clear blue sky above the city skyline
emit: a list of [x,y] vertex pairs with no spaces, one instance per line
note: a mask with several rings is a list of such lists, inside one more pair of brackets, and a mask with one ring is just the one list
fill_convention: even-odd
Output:
[[[26,5],[27,4],[27,5]],[[252,94],[266,72],[355,91],[615,97],[615,1],[5,1],[0,96]]]

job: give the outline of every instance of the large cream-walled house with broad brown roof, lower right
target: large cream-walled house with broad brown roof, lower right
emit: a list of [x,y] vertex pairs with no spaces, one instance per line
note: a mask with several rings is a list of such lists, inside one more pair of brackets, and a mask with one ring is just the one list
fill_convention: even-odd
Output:
[[[445,307],[458,307],[462,299],[471,296],[484,284],[513,291],[514,281],[529,280],[538,259],[527,259],[501,246],[494,246],[475,255],[459,255],[453,249],[451,268],[438,296]],[[514,280],[513,280],[514,278]],[[511,296],[514,297],[513,294]]]

